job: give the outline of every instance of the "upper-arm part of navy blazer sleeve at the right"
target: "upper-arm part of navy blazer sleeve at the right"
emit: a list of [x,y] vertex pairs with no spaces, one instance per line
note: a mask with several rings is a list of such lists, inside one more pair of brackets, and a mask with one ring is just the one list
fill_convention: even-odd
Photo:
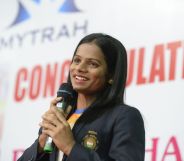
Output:
[[144,161],[145,130],[140,112],[130,108],[119,114],[109,156],[118,161]]

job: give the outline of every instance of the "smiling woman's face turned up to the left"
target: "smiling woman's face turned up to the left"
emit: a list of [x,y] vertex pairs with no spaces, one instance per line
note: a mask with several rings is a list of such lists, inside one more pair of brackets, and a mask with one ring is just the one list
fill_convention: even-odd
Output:
[[78,47],[70,66],[70,78],[78,93],[96,94],[105,86],[107,64],[97,45],[85,43]]

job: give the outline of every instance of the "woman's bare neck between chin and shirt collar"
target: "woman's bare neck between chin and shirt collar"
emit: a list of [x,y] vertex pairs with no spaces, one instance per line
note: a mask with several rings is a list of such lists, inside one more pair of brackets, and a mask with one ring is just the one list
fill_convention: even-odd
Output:
[[77,109],[88,108],[95,101],[95,99],[95,96],[79,93],[77,98]]

